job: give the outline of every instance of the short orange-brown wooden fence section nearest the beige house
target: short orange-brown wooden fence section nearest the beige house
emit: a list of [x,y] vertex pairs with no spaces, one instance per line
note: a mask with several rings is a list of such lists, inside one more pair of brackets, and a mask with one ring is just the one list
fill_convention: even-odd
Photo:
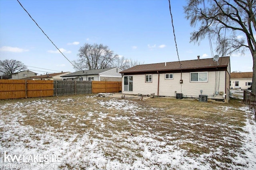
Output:
[[92,81],[92,93],[113,93],[122,91],[122,82]]

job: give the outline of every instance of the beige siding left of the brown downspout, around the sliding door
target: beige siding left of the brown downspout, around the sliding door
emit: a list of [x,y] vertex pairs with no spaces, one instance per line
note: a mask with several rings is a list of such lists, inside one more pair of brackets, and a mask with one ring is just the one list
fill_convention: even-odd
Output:
[[[152,82],[145,82],[145,74],[140,75],[129,75],[132,76],[132,92],[124,91],[124,86],[122,85],[122,92],[124,94],[151,94],[155,93],[157,95],[158,87],[158,74],[152,74]],[[122,78],[122,84],[124,84],[124,76]]]

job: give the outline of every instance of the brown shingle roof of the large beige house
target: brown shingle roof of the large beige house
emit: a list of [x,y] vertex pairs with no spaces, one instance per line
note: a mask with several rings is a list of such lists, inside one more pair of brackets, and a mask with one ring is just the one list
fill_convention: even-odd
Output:
[[[210,59],[200,60],[188,60],[156,64],[143,64],[137,65],[132,68],[128,68],[120,73],[134,73],[134,72],[151,72],[151,71],[167,71],[167,70],[188,70],[188,69],[200,69],[200,68],[215,68],[215,67],[227,67],[229,63],[229,57],[220,57],[217,65],[216,61]],[[182,64],[182,67],[180,67]]]

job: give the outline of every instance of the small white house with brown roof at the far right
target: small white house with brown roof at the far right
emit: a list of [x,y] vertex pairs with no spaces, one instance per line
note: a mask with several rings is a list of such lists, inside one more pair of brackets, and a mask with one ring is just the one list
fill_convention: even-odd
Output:
[[230,73],[231,89],[250,89],[252,86],[252,72],[232,72]]

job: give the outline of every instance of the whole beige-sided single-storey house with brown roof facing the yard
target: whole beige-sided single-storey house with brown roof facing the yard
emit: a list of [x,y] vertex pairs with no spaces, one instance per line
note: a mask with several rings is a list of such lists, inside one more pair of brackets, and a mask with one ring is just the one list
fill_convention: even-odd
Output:
[[[181,66],[180,66],[181,64]],[[223,99],[230,88],[230,57],[137,65],[122,73],[123,94]]]

